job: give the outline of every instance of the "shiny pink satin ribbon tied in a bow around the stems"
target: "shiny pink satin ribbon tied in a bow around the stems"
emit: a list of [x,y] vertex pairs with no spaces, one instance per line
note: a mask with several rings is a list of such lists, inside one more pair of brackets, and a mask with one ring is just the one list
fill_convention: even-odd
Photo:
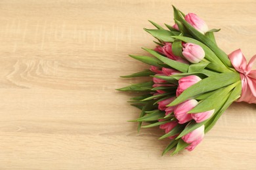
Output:
[[234,69],[240,73],[242,80],[242,93],[237,102],[256,103],[256,70],[251,70],[256,60],[256,55],[251,58],[247,65],[246,58],[240,49],[228,55]]

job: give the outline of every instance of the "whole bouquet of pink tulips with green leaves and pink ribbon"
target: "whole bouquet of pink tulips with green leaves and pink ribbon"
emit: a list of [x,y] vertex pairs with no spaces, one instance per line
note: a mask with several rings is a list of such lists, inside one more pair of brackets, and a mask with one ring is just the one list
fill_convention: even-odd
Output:
[[[149,76],[150,81],[132,84],[120,91],[139,92],[131,105],[141,110],[140,127],[159,126],[160,139],[169,139],[163,154],[186,148],[193,150],[234,101],[256,103],[256,70],[251,70],[241,50],[227,55],[215,41],[214,33],[196,14],[183,14],[173,7],[173,26],[145,29],[157,39],[150,56],[133,56],[149,69],[125,78]],[[145,122],[146,124],[142,123]]]

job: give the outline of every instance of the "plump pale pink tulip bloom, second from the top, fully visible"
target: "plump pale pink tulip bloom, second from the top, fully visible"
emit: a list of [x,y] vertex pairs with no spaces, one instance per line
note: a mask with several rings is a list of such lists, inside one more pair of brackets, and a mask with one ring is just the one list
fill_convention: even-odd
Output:
[[199,63],[205,57],[203,48],[197,44],[186,43],[183,45],[182,55],[190,61],[190,63]]

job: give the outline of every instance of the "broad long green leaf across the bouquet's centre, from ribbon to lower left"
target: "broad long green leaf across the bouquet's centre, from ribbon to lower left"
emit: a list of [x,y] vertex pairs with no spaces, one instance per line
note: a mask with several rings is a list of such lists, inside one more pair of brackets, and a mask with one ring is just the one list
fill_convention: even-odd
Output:
[[220,73],[219,75],[209,76],[184,90],[177,99],[167,106],[178,105],[187,99],[196,97],[196,95],[223,88],[224,86],[228,86],[234,82],[238,82],[239,80],[240,75],[238,73]]

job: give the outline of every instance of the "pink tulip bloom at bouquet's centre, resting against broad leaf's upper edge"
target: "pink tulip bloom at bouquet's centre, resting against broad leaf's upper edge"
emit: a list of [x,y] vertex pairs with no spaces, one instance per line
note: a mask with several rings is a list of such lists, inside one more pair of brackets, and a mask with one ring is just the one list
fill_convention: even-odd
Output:
[[177,97],[179,95],[181,95],[181,93],[184,90],[186,90],[187,88],[189,88],[193,84],[196,84],[200,80],[202,80],[202,79],[199,76],[195,76],[195,75],[184,76],[181,79],[179,79],[179,86],[178,86],[177,91],[176,91]]

